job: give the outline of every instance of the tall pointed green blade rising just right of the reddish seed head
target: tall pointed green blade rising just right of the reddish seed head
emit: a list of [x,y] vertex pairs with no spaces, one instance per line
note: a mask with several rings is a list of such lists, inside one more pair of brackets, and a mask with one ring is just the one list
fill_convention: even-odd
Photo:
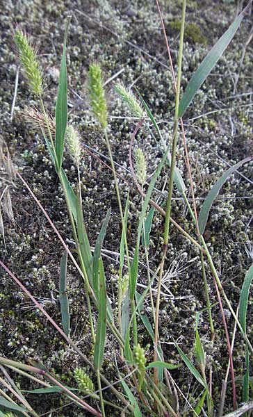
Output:
[[67,127],[67,65],[66,65],[66,43],[67,31],[70,26],[70,18],[67,19],[64,42],[63,55],[60,65],[60,78],[58,85],[58,95],[56,101],[56,170],[60,171],[63,161],[63,148],[65,140],[65,131]]

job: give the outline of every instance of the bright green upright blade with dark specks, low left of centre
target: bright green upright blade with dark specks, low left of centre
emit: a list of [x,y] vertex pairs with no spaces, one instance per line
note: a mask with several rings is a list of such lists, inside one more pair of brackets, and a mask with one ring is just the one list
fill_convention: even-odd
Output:
[[106,341],[106,279],[104,266],[99,258],[99,317],[97,319],[97,332],[94,352],[94,366],[99,370],[104,357],[104,344]]

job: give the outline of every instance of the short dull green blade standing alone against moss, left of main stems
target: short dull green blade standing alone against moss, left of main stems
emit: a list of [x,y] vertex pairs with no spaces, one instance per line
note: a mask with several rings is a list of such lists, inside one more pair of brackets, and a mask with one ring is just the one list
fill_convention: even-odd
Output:
[[60,313],[63,323],[63,332],[70,336],[70,309],[67,299],[67,251],[64,252],[60,261],[60,283],[59,283]]

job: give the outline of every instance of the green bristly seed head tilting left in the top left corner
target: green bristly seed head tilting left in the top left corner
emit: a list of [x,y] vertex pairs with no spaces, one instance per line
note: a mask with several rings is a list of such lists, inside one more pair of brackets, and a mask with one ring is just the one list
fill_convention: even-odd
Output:
[[26,34],[17,29],[14,35],[16,47],[19,51],[19,59],[24,66],[26,78],[31,87],[31,90],[37,94],[42,94],[42,70],[35,49],[29,42]]

